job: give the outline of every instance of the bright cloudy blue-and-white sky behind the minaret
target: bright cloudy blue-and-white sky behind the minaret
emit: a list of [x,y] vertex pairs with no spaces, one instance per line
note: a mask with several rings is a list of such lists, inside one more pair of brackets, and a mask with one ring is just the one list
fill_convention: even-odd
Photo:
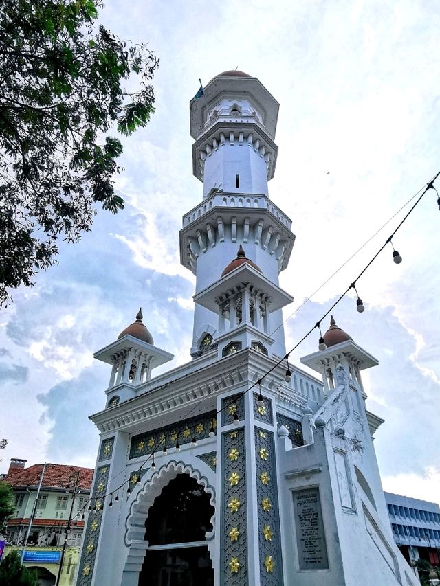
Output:
[[[9,439],[0,472],[10,458],[94,466],[98,431],[88,416],[104,407],[110,373],[93,353],[140,306],[155,344],[175,354],[167,368],[190,359],[195,281],[179,264],[179,229],[202,194],[192,176],[188,106],[199,78],[208,84],[238,67],[280,103],[269,189],[296,234],[281,273],[281,286],[294,295],[284,310],[287,348],[440,170],[434,0],[278,0],[270,9],[262,0],[132,0],[129,8],[109,0],[100,21],[120,38],[148,42],[160,58],[156,113],[123,139],[124,170],[115,181],[125,210],[98,210],[92,232],[61,245],[58,265],[0,310],[0,437]],[[437,502],[439,223],[430,190],[393,239],[403,262],[393,263],[388,245],[358,281],[366,311],[355,311],[352,296],[333,311],[380,362],[363,378],[367,407],[386,420],[375,439],[384,489]],[[294,363],[317,343],[309,337]]]

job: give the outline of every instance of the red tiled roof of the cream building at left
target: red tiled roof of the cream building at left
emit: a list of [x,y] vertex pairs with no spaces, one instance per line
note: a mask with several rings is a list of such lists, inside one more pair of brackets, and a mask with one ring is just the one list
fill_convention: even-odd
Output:
[[[34,464],[8,474],[2,480],[8,482],[12,488],[38,486],[43,464]],[[42,488],[65,488],[67,484],[73,488],[76,475],[80,472],[78,488],[90,491],[94,470],[83,466],[67,466],[65,464],[46,464]]]

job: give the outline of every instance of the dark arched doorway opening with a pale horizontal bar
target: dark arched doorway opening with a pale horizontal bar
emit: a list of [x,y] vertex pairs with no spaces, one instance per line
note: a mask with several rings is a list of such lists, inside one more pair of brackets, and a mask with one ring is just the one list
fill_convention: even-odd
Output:
[[214,570],[205,535],[214,507],[195,478],[178,474],[148,511],[148,550],[139,586],[213,586]]

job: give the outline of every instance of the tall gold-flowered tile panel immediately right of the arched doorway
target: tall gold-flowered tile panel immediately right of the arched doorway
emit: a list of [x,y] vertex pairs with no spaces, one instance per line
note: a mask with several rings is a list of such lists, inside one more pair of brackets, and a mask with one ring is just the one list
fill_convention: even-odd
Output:
[[220,584],[248,586],[246,453],[243,427],[221,434]]

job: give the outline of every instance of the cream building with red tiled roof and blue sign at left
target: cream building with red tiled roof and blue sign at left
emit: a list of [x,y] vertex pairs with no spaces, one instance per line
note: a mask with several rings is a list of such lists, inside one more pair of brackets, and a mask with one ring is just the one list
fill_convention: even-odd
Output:
[[[63,545],[67,540],[60,585],[72,585],[94,471],[65,464],[46,464],[45,467],[44,464],[34,464],[25,468],[25,462],[12,459],[8,474],[1,479],[12,486],[15,496],[15,512],[3,530],[8,541],[5,555],[12,549],[22,549],[35,508],[23,561],[38,570],[41,585],[51,586],[56,582]],[[42,473],[41,489],[36,499]]]

